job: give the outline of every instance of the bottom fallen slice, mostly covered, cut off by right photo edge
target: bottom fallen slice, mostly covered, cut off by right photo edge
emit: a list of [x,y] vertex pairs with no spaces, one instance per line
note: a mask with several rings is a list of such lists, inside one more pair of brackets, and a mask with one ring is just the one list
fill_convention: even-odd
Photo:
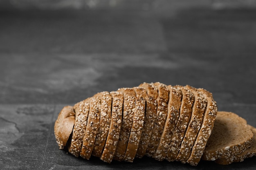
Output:
[[222,165],[228,165],[233,162],[242,162],[246,158],[253,157],[256,155],[256,128],[254,128],[253,126],[250,126],[250,125],[248,125],[248,127],[250,128],[250,130],[253,133],[252,146],[250,146],[249,148],[247,148],[245,151],[243,151],[242,153],[240,153],[238,155],[233,155],[229,158],[216,159],[216,161],[215,161],[216,163],[219,163]]

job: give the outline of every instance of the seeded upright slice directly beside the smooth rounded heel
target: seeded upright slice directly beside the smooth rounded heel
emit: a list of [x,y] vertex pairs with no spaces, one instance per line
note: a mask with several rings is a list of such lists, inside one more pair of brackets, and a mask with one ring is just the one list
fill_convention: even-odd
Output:
[[85,99],[74,105],[75,124],[72,133],[71,144],[70,146],[68,146],[68,151],[75,157],[79,157],[81,152],[83,137],[85,135],[87,125],[89,108],[90,98]]

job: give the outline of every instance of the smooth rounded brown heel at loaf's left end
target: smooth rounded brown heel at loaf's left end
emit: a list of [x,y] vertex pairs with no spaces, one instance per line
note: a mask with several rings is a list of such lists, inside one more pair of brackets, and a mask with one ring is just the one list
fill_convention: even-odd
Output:
[[54,124],[54,135],[60,149],[64,149],[75,124],[73,106],[65,106]]

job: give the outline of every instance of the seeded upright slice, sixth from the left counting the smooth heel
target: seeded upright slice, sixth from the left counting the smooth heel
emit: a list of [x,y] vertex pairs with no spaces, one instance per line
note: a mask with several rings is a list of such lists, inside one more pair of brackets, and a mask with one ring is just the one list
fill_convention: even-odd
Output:
[[122,126],[114,159],[117,161],[122,161],[124,159],[130,137],[130,131],[132,129],[136,93],[133,88],[120,88],[118,91],[124,94],[124,108]]

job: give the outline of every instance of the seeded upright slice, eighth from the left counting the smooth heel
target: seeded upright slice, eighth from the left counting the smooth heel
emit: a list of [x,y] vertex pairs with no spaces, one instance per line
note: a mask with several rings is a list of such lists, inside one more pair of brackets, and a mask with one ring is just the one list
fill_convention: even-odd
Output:
[[139,87],[145,88],[147,93],[144,125],[139,141],[139,147],[136,153],[136,157],[142,158],[146,154],[146,149],[148,148],[148,143],[152,135],[153,126],[157,115],[158,90],[156,86],[149,83],[140,84]]

